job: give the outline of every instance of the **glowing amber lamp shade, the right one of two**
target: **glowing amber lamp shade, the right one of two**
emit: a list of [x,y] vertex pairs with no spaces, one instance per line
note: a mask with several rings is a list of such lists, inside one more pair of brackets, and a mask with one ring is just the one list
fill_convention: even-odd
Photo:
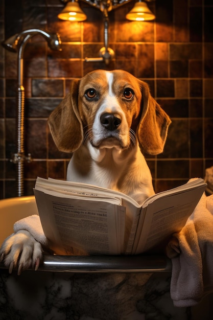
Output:
[[132,10],[127,13],[126,18],[133,21],[147,21],[154,20],[155,15],[145,2],[136,2]]

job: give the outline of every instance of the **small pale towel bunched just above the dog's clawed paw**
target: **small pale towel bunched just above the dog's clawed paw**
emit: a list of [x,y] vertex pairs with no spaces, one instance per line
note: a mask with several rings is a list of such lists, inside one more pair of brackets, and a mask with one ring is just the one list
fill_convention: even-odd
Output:
[[48,239],[46,239],[43,233],[41,220],[38,215],[32,215],[18,220],[14,223],[13,229],[15,233],[19,230],[27,230],[44,248],[49,246]]

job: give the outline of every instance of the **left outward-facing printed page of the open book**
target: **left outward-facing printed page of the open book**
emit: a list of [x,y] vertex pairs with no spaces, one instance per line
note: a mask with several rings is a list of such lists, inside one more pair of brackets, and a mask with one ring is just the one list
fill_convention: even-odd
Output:
[[54,196],[34,189],[45,236],[57,254],[124,253],[125,208],[103,201]]

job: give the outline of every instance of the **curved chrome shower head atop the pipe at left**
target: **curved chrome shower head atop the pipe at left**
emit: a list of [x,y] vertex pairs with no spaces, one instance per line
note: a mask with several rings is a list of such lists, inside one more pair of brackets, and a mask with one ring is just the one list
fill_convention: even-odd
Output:
[[22,43],[25,43],[29,38],[35,35],[42,35],[48,42],[50,49],[61,51],[61,39],[59,34],[50,33],[42,29],[29,29],[16,33],[7,40],[2,41],[2,45],[9,51],[17,52]]

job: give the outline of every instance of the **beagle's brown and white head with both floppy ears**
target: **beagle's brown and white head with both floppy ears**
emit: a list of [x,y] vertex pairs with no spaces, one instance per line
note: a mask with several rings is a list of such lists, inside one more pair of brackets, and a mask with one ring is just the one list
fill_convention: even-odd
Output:
[[125,149],[137,137],[142,152],[158,154],[170,123],[148,85],[122,70],[97,70],[73,80],[49,118],[55,144],[64,152],[87,140],[96,148]]

